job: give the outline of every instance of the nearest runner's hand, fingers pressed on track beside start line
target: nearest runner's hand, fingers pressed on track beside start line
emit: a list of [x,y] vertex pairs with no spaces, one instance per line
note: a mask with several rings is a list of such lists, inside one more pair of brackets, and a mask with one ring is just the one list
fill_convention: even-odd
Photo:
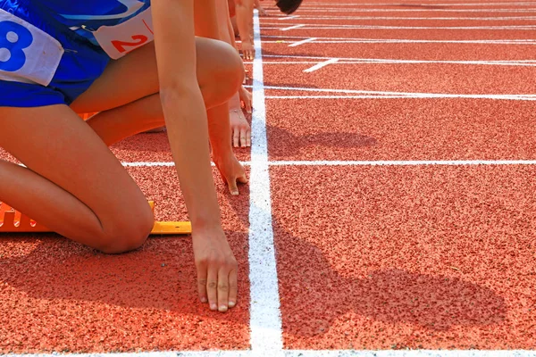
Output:
[[197,268],[197,291],[212,311],[228,311],[237,304],[238,264],[222,228],[192,232]]

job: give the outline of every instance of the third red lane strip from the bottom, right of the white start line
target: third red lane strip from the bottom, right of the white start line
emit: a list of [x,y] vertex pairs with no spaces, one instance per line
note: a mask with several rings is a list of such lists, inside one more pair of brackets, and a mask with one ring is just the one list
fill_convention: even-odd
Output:
[[[289,59],[299,61],[300,59]],[[304,59],[307,62],[314,60]],[[324,60],[327,61],[328,59]],[[316,60],[322,62],[322,60]],[[296,76],[313,64],[267,65],[264,75],[270,80],[266,86],[334,88],[392,92],[450,93],[450,94],[530,94],[536,93],[534,81],[517,79],[532,76],[534,67],[467,65],[451,63],[352,63],[333,64],[320,71]],[[352,76],[348,76],[352,73]],[[277,74],[277,76],[276,76]],[[267,95],[319,95],[267,90]],[[334,95],[336,93],[322,93]]]

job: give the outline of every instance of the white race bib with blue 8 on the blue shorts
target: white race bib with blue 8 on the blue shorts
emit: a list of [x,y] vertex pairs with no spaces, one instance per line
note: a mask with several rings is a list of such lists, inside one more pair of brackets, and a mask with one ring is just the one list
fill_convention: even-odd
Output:
[[54,37],[0,9],[0,79],[48,86],[63,52]]

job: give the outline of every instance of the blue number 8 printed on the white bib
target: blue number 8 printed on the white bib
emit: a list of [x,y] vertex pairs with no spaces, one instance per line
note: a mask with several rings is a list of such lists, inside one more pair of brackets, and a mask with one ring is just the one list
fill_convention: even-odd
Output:
[[[29,29],[13,21],[0,21],[0,71],[19,71],[26,63],[26,54],[22,51],[33,42]],[[7,56],[2,55],[5,51]]]

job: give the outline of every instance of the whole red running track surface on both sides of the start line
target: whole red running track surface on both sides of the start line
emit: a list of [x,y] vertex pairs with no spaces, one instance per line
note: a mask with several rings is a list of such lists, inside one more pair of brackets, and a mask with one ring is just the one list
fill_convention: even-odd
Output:
[[[356,6],[355,0],[323,3],[333,8],[348,3],[341,6],[348,9],[419,8],[416,1],[405,6]],[[536,11],[486,12],[523,9],[514,5],[454,6],[481,12],[432,14],[423,12],[425,8],[325,13],[310,8],[322,6],[306,1],[297,13],[401,19],[280,21],[269,17],[261,21],[263,35],[281,38],[263,39],[281,42],[264,43],[263,54],[325,60],[536,60],[534,45],[307,43],[289,47],[301,37],[533,39],[535,30],[281,31],[263,25],[536,24],[534,20],[402,19],[536,16]],[[325,60],[264,57],[266,62]],[[265,64],[264,85],[440,94],[536,93],[532,80],[536,67],[359,63],[303,72],[313,65]],[[251,75],[251,66],[247,68]],[[345,95],[269,88],[265,92],[268,96]],[[536,160],[535,116],[531,101],[266,99],[271,161]],[[138,135],[112,149],[121,162],[172,161],[165,134]],[[248,149],[237,153],[239,160],[250,160]],[[2,151],[0,158],[14,160]],[[127,170],[147,199],[155,201],[157,220],[188,219],[174,168]],[[536,346],[536,166],[287,165],[272,167],[270,174],[285,348]],[[240,266],[235,309],[214,313],[197,301],[190,237],[154,237],[136,252],[105,255],[55,235],[3,235],[0,353],[247,350],[252,303],[247,279],[248,188],[241,187],[239,197],[230,197],[215,169],[214,178],[224,228]]]

